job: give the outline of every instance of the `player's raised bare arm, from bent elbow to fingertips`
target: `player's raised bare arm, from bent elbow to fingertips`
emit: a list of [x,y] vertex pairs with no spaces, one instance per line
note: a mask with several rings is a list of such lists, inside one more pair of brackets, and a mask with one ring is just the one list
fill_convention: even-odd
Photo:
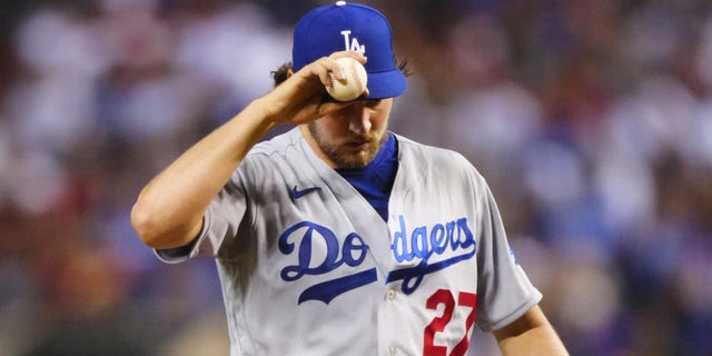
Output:
[[200,231],[212,198],[230,178],[249,149],[283,123],[304,123],[349,103],[324,102],[329,72],[343,79],[335,59],[365,58],[336,52],[305,66],[264,97],[202,138],[141,189],[131,209],[131,225],[154,248],[185,246]]

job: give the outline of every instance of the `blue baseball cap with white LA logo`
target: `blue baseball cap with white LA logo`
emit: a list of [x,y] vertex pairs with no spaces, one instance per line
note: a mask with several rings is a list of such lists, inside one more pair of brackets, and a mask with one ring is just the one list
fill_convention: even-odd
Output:
[[390,24],[376,9],[338,1],[309,11],[294,30],[291,63],[295,71],[333,52],[353,50],[368,58],[367,99],[402,95],[405,76],[393,55]]

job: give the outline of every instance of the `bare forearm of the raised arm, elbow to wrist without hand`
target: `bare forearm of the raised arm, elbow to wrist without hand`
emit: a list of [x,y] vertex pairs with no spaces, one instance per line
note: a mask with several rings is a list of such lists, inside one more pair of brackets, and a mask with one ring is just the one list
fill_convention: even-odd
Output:
[[258,99],[156,176],[131,210],[131,224],[144,243],[154,248],[190,243],[212,198],[274,126]]

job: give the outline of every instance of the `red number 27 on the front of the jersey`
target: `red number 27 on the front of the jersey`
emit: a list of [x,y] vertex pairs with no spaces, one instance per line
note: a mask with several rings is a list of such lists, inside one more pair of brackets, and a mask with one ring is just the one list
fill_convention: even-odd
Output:
[[467,318],[465,319],[465,335],[455,345],[449,356],[463,356],[469,348],[469,329],[475,324],[475,313],[477,310],[477,295],[474,293],[461,291],[457,296],[457,305],[455,305],[455,297],[448,289],[437,289],[425,304],[425,307],[431,310],[436,310],[438,305],[443,305],[443,314],[435,317],[431,324],[425,327],[425,335],[423,337],[423,356],[447,356],[447,346],[435,345],[435,334],[445,330],[445,327],[453,318],[453,313],[456,306],[471,308]]

